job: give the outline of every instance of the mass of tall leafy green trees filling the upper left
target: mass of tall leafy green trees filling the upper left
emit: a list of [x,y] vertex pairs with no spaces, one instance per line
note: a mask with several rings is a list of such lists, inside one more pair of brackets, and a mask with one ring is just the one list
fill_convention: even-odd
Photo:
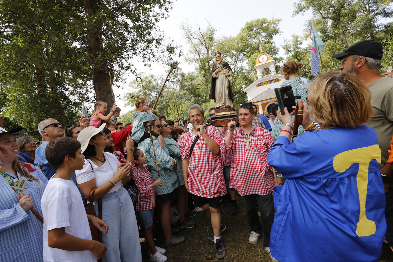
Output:
[[165,43],[156,26],[167,17],[168,0],[3,0],[1,5],[2,111],[36,135],[42,119],[72,123],[83,103],[97,99],[111,106],[108,71],[116,71],[114,81],[123,81],[121,71],[134,71],[130,59],[140,57],[149,66],[175,55],[176,46]]

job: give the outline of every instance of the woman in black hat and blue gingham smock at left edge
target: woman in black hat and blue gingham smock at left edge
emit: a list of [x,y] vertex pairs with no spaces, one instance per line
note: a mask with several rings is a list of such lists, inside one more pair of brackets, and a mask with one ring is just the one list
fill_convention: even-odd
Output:
[[16,140],[25,132],[0,127],[0,261],[43,260],[40,203],[48,179],[38,167],[18,161]]

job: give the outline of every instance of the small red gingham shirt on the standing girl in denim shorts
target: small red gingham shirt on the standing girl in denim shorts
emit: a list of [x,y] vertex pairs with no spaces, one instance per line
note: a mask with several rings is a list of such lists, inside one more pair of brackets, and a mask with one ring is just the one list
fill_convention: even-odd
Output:
[[134,178],[139,192],[136,211],[153,209],[156,206],[156,193],[152,186],[153,179],[149,169],[146,167],[135,167],[132,178]]

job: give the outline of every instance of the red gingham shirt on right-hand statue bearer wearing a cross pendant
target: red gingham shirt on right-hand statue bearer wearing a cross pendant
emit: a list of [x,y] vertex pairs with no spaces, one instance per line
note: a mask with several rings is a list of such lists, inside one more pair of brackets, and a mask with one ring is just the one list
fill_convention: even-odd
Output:
[[229,187],[236,189],[241,196],[270,194],[274,177],[266,156],[274,139],[268,130],[258,126],[254,126],[249,138],[251,149],[246,149],[246,134],[241,127],[237,127],[228,148],[225,147],[225,139],[221,141],[221,151],[232,154]]

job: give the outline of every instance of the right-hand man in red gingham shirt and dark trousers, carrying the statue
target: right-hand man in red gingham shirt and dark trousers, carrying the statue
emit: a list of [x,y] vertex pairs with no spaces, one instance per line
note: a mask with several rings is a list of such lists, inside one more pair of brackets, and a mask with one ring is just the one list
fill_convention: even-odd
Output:
[[[252,125],[254,116],[251,103],[239,106],[240,127],[230,127],[236,126],[234,121],[228,124],[228,132],[221,141],[220,148],[222,152],[232,154],[229,186],[242,196],[251,227],[249,242],[255,244],[263,233],[263,245],[269,252],[270,229],[274,218],[274,176],[266,156],[274,139],[265,128]],[[278,185],[281,184],[281,178],[277,178],[277,182]],[[257,207],[261,212],[262,224]]]

